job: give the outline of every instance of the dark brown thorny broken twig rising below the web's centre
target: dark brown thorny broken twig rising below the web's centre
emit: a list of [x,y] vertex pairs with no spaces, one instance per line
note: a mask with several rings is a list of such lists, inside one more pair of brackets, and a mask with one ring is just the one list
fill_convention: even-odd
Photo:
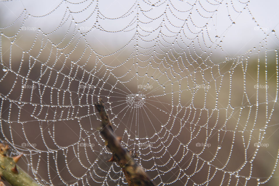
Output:
[[120,140],[117,139],[113,132],[112,124],[108,114],[105,112],[103,101],[99,99],[99,103],[95,103],[95,107],[102,120],[100,133],[105,139],[105,145],[110,149],[113,155],[108,161],[115,161],[119,164],[129,186],[154,186],[146,172],[132,158],[132,152],[121,146]]

